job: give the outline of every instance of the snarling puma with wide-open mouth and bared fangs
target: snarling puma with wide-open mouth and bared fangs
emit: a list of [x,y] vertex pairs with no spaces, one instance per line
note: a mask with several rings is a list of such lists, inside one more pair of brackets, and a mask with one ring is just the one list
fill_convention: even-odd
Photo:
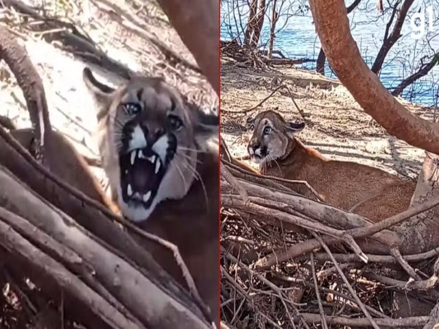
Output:
[[[114,89],[84,69],[84,82],[99,106],[97,139],[113,199],[124,217],[178,247],[218,328],[219,151],[209,143],[217,141],[218,117],[158,77]],[[138,241],[186,287],[169,249]]]

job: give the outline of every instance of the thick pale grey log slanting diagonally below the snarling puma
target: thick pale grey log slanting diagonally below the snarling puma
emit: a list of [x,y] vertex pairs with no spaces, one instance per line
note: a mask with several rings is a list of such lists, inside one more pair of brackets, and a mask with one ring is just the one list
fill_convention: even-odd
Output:
[[[202,321],[200,311],[193,308],[194,313],[163,291],[126,260],[106,249],[99,243],[99,239],[78,226],[73,219],[23,186],[19,180],[8,174],[7,169],[0,171],[0,184],[5,187],[0,192],[1,206],[21,215],[78,253],[91,264],[104,287],[121,300],[143,324],[154,328],[209,328]],[[145,294],[144,291],[148,293]],[[164,317],[166,322],[163,321]]]

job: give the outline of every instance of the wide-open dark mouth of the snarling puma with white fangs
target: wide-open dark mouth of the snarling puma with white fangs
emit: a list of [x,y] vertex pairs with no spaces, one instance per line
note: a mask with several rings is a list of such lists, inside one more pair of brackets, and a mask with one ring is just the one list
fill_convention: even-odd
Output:
[[151,149],[119,154],[122,199],[129,206],[150,208],[167,167]]

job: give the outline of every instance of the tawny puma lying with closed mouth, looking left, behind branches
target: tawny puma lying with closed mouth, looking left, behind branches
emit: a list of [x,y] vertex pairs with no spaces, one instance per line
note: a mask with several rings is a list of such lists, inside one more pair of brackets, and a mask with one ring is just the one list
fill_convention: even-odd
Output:
[[[287,122],[281,114],[268,110],[249,117],[247,125],[253,131],[248,154],[266,175],[305,180],[324,202],[372,221],[385,219],[410,206],[415,181],[364,164],[322,156],[294,136],[305,128],[305,123]],[[309,193],[306,186],[283,184],[298,193]]]

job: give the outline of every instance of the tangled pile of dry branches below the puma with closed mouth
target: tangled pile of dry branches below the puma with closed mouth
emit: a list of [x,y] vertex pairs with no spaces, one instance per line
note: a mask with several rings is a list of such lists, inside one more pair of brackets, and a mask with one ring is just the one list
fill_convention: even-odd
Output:
[[[410,252],[397,242],[402,230],[392,228],[437,199],[372,225],[322,204],[312,191],[304,197],[282,180],[244,171],[222,151],[221,306],[229,328],[436,324],[438,306],[431,317],[392,319],[391,301],[398,292],[430,310],[438,301],[439,248]],[[404,270],[414,279],[394,278]]]

